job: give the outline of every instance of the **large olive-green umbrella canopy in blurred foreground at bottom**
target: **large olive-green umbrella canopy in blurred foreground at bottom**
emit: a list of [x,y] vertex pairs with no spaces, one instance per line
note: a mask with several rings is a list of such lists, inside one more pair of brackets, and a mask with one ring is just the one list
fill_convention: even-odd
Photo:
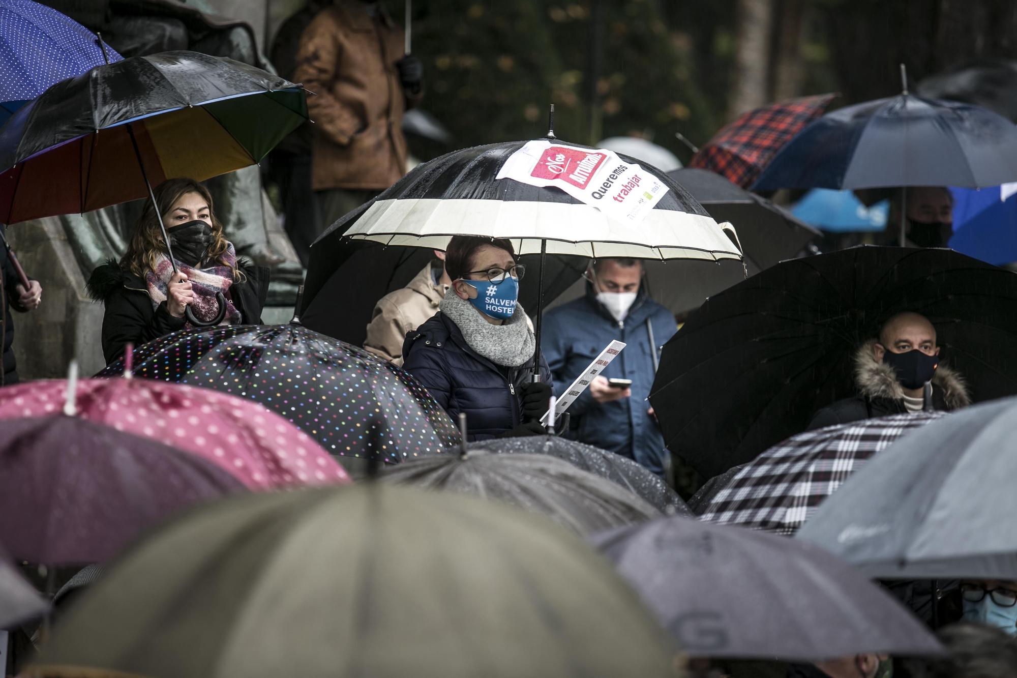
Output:
[[672,676],[636,596],[525,512],[377,484],[260,494],[139,545],[36,667],[148,676]]

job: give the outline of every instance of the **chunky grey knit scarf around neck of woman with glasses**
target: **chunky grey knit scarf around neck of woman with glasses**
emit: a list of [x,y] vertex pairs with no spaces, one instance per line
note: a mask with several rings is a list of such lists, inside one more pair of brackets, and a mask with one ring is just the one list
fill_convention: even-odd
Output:
[[456,290],[450,287],[438,307],[459,326],[470,348],[494,364],[518,368],[533,357],[537,342],[526,322],[522,305],[517,303],[516,313],[503,324],[492,325],[481,318],[472,303],[459,298]]

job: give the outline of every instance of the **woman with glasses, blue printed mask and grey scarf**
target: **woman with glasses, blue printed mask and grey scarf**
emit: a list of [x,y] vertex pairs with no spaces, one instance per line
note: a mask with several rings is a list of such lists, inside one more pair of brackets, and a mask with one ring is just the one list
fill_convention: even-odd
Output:
[[544,433],[552,385],[543,357],[542,381],[531,381],[536,339],[517,300],[524,272],[507,240],[453,237],[439,312],[403,344],[403,368],[453,420],[466,413],[469,440]]

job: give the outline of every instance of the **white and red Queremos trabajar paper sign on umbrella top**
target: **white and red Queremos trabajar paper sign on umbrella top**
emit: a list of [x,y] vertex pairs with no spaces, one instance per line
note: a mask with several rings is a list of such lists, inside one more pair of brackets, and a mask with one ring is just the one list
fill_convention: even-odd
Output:
[[640,223],[668,188],[640,165],[613,151],[580,149],[549,140],[527,142],[512,154],[498,179],[532,186],[557,186],[612,219]]

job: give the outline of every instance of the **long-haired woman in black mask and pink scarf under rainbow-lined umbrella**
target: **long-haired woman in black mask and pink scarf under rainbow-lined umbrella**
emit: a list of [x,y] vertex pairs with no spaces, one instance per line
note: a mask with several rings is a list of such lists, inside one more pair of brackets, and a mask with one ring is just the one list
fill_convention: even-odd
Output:
[[207,189],[192,179],[169,179],[155,193],[178,272],[173,273],[155,208],[146,202],[126,253],[88,279],[88,293],[106,305],[107,362],[119,358],[127,343],[140,345],[188,327],[187,306],[211,322],[219,310],[217,292],[227,299],[223,324],[261,323],[268,270],[237,259]]

